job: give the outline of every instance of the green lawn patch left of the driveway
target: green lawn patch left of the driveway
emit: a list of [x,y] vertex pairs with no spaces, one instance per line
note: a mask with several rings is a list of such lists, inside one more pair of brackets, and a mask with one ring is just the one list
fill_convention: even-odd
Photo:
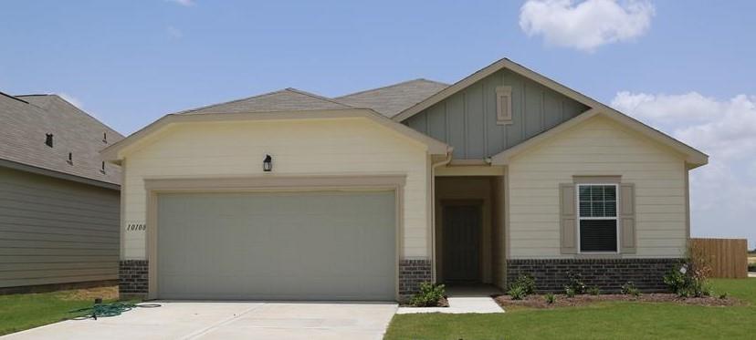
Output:
[[[113,299],[113,287],[37,294],[0,295],[0,335],[47,325],[84,313],[68,311],[90,307],[94,296]],[[115,293],[117,294],[117,293]]]

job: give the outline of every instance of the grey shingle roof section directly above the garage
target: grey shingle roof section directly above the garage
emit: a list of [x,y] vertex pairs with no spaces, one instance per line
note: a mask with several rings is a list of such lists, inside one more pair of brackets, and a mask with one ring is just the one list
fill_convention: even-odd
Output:
[[350,108],[331,98],[321,97],[296,88],[284,88],[263,95],[242,98],[202,108],[178,112],[180,114],[254,113],[278,111],[306,111]]

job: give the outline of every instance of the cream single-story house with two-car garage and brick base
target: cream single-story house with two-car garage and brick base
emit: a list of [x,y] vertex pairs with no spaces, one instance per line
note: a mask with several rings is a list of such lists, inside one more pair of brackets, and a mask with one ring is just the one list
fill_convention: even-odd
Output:
[[394,300],[520,273],[662,290],[708,161],[508,59],[451,86],[187,110],[103,155],[125,172],[121,292],[176,299]]

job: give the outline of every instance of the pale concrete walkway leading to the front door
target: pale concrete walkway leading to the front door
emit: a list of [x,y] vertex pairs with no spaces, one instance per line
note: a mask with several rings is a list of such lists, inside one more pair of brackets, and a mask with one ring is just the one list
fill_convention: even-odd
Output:
[[504,313],[491,295],[501,294],[499,289],[488,285],[451,286],[446,289],[448,307],[399,307],[396,314],[416,313]]

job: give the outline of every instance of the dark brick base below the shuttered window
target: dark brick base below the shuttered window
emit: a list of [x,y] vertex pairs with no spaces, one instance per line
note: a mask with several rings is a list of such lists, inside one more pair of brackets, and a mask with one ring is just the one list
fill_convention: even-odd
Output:
[[563,292],[570,282],[569,273],[580,273],[583,283],[597,286],[605,293],[620,291],[631,281],[641,291],[667,292],[662,278],[677,266],[679,259],[550,259],[509,260],[507,279],[512,283],[520,274],[535,278],[539,292]]

